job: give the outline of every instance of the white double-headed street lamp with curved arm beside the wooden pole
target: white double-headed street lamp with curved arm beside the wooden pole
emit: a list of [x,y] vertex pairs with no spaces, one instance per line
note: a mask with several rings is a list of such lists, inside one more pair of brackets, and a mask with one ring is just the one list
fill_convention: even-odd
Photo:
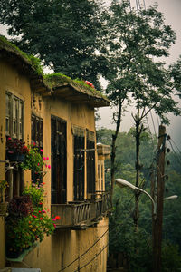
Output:
[[[151,202],[153,203],[153,215],[154,215],[154,219],[156,219],[156,215],[157,215],[157,203],[154,201],[154,199],[148,194],[148,192],[144,189],[140,189],[138,187],[136,187],[135,185],[131,184],[129,181],[127,180],[123,180],[123,179],[116,179],[115,180],[116,184],[119,185],[119,187],[129,187],[130,189],[134,189],[134,190],[139,190],[141,192],[143,192],[144,194],[146,194],[148,196],[148,198],[151,200]],[[174,195],[174,196],[170,196],[165,198],[164,200],[169,200],[169,199],[176,199],[178,196]]]

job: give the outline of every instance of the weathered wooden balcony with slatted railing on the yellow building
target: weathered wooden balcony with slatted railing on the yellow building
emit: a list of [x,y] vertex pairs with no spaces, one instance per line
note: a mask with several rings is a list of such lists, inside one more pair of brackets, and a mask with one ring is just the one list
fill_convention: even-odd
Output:
[[96,194],[95,199],[85,199],[81,202],[68,204],[52,204],[52,215],[60,216],[56,228],[89,228],[107,216],[112,209],[110,193]]

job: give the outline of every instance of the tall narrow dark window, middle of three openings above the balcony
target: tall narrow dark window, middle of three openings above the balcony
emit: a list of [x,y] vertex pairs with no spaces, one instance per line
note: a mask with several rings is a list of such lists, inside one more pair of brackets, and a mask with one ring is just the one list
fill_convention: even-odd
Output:
[[74,146],[74,164],[73,164],[73,190],[74,200],[84,199],[84,170],[85,170],[85,136],[84,130],[79,127],[72,128],[73,146]]

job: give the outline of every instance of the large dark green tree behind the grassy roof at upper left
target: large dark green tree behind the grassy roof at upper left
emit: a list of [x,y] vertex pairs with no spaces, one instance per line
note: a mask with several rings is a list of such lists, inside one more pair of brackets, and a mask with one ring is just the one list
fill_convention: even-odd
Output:
[[95,0],[2,0],[0,12],[25,53],[38,54],[54,72],[96,83],[103,60],[95,53],[101,27]]

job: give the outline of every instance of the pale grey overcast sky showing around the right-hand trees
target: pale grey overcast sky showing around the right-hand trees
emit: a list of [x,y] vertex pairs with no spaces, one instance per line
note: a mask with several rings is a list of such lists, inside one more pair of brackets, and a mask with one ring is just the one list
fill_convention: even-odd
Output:
[[[107,0],[109,2],[109,0]],[[131,5],[134,6],[136,0],[131,0]],[[144,5],[144,0],[139,0],[140,5]],[[156,3],[153,0],[145,0],[146,8],[149,5]],[[167,64],[176,62],[177,58],[181,54],[181,0],[157,0],[158,10],[162,12],[166,18],[166,24],[170,24],[172,29],[176,31],[176,44],[173,44],[170,49],[170,56],[167,58]],[[179,102],[181,107],[181,101]],[[115,125],[112,125],[112,112],[109,108],[100,109],[101,121],[98,122],[98,127],[107,127],[115,129]],[[129,131],[131,125],[133,125],[133,120],[131,117],[132,109],[129,108],[129,112],[125,113],[123,121],[121,124],[121,131]],[[181,147],[181,117],[174,117],[170,115],[171,124],[167,127],[167,133],[176,141],[177,145]],[[154,118],[154,123],[156,131],[158,129],[157,118]],[[149,125],[151,130],[154,132],[154,126],[149,116]]]

